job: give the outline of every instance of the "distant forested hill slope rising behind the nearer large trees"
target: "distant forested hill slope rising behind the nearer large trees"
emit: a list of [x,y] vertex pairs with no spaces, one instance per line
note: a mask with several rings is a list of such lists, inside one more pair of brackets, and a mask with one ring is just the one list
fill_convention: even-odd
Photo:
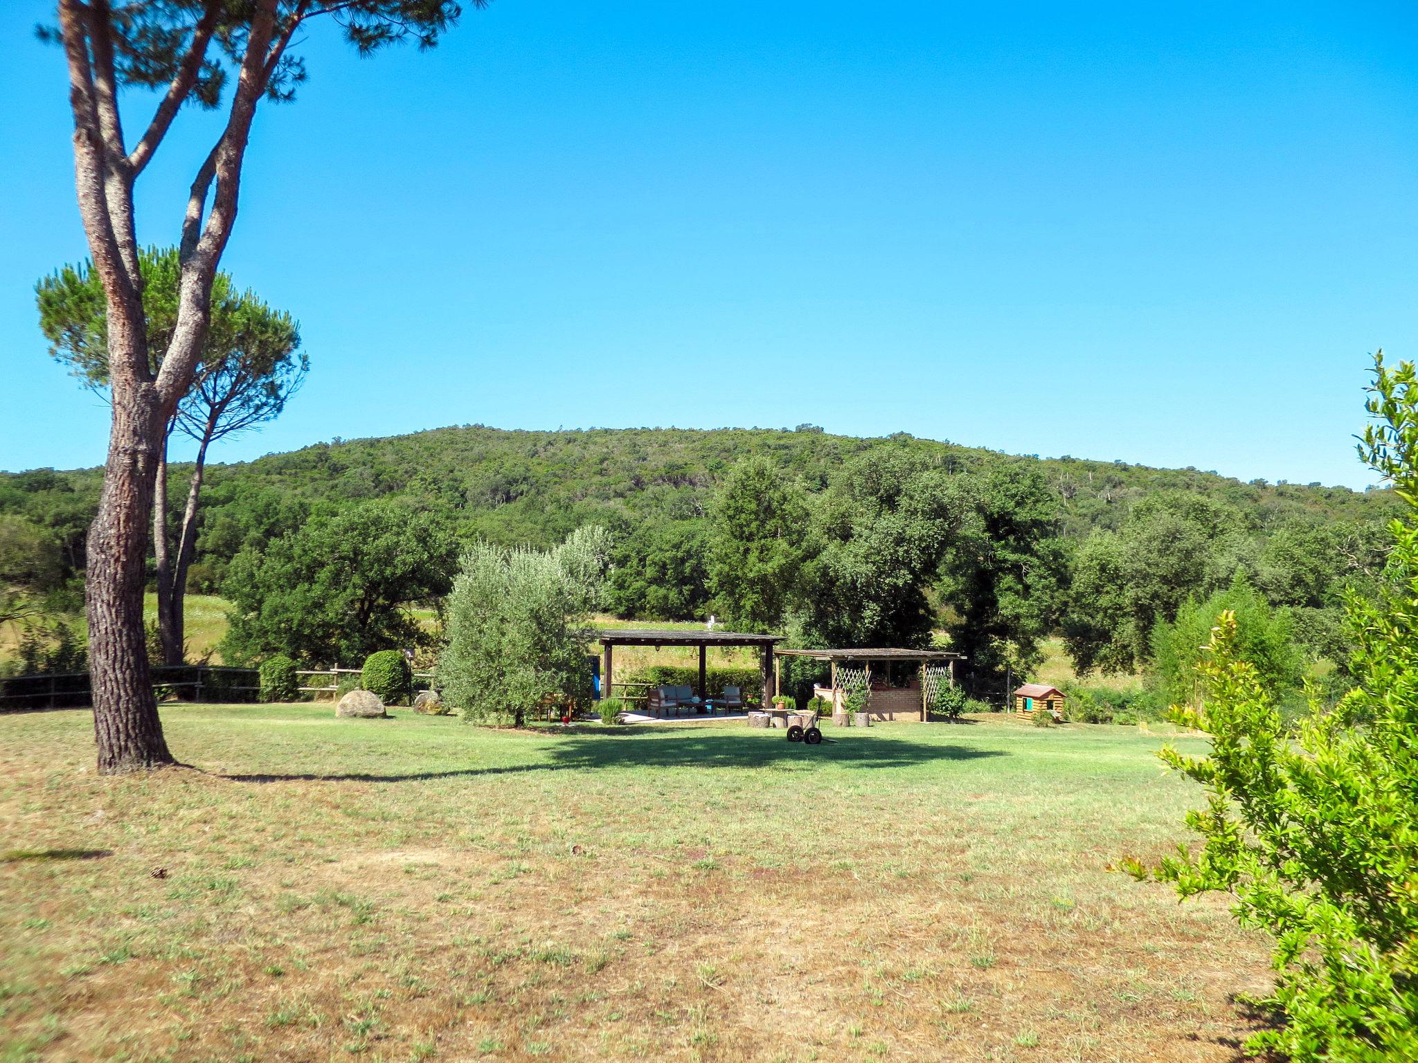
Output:
[[[1255,532],[1278,522],[1377,520],[1394,512],[1387,490],[1356,492],[1319,483],[1244,483],[1198,469],[1154,469],[1075,458],[1038,459],[905,434],[861,439],[813,427],[794,431],[723,428],[630,428],[590,431],[503,431],[482,425],[435,428],[381,439],[336,439],[252,462],[214,465],[203,499],[206,553],[224,554],[221,512],[265,499],[346,503],[377,497],[427,502],[458,514],[459,537],[550,544],[577,524],[627,519],[702,516],[715,483],[737,461],[764,455],[803,480],[828,485],[852,456],[878,448],[906,448],[947,472],[980,472],[1001,463],[1044,471],[1058,495],[1068,539],[1117,527],[1137,500],[1160,492],[1202,495],[1235,507]],[[186,468],[170,476],[173,503],[186,492]],[[71,560],[98,497],[101,469],[0,473],[0,512],[20,513],[68,540]],[[78,540],[78,541],[77,541]],[[216,557],[210,560],[217,560]],[[220,561],[218,561],[220,564]]]

